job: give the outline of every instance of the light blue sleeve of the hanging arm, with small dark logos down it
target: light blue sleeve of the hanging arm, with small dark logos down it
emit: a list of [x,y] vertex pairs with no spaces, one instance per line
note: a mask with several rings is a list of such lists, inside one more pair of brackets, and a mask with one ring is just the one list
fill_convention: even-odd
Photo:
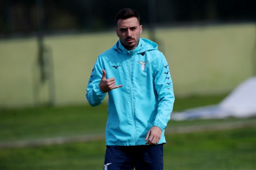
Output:
[[157,70],[155,70],[154,85],[158,94],[158,110],[153,125],[163,131],[171,118],[174,106],[174,91],[169,65],[163,53],[157,58],[155,65]]

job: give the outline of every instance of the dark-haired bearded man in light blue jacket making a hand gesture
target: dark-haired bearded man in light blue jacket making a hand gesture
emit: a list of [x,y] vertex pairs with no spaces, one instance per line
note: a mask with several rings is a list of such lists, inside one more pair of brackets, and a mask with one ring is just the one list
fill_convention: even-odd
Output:
[[91,106],[109,97],[104,170],[162,170],[174,104],[169,67],[157,44],[140,38],[135,10],[119,11],[115,21],[119,40],[98,56],[86,94]]

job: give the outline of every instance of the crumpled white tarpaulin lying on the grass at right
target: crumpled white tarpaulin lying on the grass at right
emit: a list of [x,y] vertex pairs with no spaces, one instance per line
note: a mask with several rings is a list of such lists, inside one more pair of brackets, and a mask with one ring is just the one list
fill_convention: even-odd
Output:
[[241,83],[217,105],[172,113],[173,120],[256,116],[256,77]]

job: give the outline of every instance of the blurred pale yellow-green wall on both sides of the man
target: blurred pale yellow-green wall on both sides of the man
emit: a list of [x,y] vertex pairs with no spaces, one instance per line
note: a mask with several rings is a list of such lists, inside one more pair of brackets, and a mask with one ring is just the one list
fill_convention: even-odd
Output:
[[[255,24],[158,28],[156,33],[177,96],[228,92],[253,75]],[[148,38],[146,30],[142,37]],[[57,105],[87,103],[93,64],[117,40],[114,31],[45,38],[52,51]],[[39,81],[36,38],[0,40],[0,79],[0,107],[48,101],[47,81]]]

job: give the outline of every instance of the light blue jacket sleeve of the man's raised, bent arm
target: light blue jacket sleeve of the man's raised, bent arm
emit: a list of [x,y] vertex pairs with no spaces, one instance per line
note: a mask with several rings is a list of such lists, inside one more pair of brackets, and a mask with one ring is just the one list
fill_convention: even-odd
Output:
[[100,62],[100,57],[98,57],[92,69],[88,86],[86,88],[86,98],[91,106],[98,106],[106,96],[106,93],[104,93],[99,87],[103,74],[102,69],[102,63]]

